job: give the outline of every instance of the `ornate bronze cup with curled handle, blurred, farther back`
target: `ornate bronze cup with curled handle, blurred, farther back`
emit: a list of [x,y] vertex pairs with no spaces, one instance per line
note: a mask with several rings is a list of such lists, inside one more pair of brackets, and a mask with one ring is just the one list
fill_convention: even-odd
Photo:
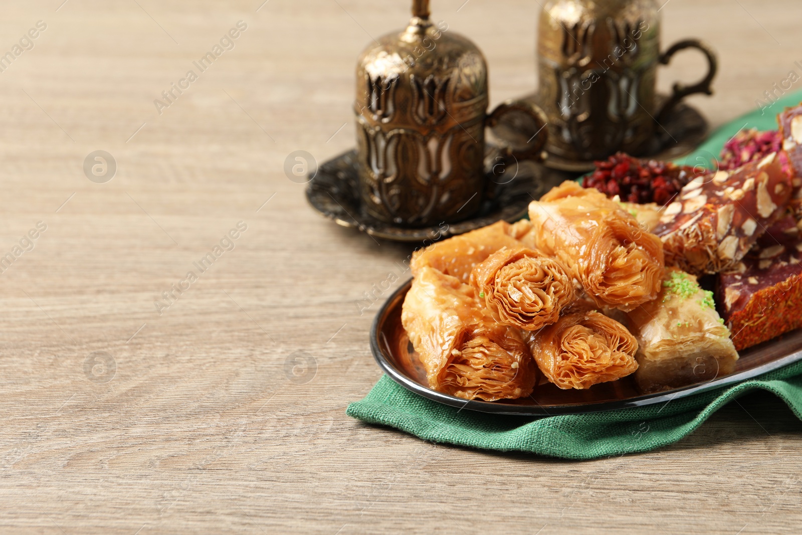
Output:
[[[549,0],[538,32],[537,103],[549,117],[548,150],[562,159],[642,154],[680,100],[712,94],[715,53],[687,39],[661,55],[654,0]],[[707,57],[707,75],[690,87],[675,84],[673,95],[659,103],[658,63],[690,47]]]

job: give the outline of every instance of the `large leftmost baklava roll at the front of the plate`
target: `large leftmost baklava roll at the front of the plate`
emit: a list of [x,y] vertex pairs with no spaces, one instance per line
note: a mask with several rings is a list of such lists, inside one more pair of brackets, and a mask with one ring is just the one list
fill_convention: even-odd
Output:
[[496,322],[472,286],[423,267],[404,299],[401,322],[432,389],[484,401],[532,393],[537,369],[521,331]]

